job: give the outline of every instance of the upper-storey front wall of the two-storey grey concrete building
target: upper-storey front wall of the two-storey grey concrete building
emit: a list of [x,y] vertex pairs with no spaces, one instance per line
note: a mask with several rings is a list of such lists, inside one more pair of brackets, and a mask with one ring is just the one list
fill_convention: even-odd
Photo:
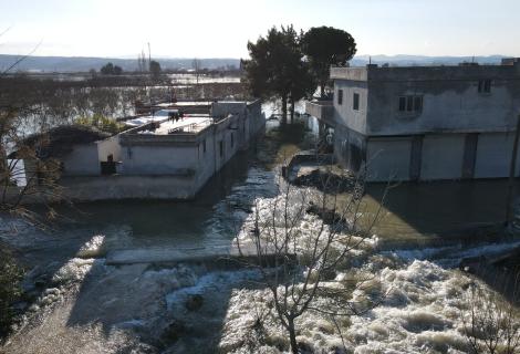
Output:
[[[477,79],[370,82],[366,134],[513,129],[520,110],[520,81],[493,80],[489,94],[479,93],[478,83]],[[408,95],[423,96],[422,112],[399,112],[399,97]]]

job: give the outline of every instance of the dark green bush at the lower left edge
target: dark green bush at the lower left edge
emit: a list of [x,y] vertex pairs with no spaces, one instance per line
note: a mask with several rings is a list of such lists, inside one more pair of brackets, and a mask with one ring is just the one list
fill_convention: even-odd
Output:
[[12,256],[0,249],[0,341],[9,332],[14,317],[12,304],[20,299],[22,271]]

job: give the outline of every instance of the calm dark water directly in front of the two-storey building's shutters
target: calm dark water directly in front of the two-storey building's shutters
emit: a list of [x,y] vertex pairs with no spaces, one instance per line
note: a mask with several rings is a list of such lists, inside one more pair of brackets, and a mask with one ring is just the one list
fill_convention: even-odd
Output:
[[[516,183],[516,188],[520,185]],[[387,188],[366,187],[368,210],[376,210]],[[388,190],[375,231],[389,239],[427,240],[487,232],[506,219],[506,179],[402,184]]]

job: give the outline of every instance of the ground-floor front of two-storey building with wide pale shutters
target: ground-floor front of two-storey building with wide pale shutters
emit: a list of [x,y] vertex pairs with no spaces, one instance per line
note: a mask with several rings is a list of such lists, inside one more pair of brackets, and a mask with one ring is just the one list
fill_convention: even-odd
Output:
[[[509,176],[514,134],[478,134],[476,145],[468,145],[467,134],[371,137],[366,142],[368,181],[443,180],[461,178],[503,178]],[[416,144],[420,142],[420,144]],[[475,154],[468,154],[468,147]],[[418,166],[414,167],[415,160]],[[520,148],[519,148],[520,149]],[[469,175],[468,156],[475,157]],[[416,170],[414,170],[416,168]],[[516,176],[520,176],[520,152]],[[415,176],[415,177],[414,177]]]

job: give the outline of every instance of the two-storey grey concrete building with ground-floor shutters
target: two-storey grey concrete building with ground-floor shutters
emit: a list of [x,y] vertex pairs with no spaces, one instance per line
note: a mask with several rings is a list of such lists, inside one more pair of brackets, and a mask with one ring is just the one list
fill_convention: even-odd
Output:
[[[337,160],[368,181],[509,175],[520,61],[502,65],[332,67],[333,102],[306,112],[334,132]],[[520,164],[517,175],[520,174]]]

